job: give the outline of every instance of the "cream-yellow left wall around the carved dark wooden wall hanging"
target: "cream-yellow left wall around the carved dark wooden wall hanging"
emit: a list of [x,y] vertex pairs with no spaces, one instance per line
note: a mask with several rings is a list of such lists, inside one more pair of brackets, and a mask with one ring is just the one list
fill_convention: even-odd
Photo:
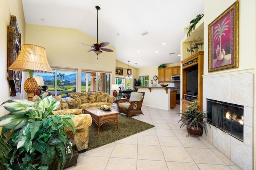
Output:
[[[10,96],[10,86],[7,80],[7,28],[10,25],[11,15],[16,16],[18,26],[21,32],[21,43],[25,42],[25,19],[21,0],[0,0],[0,104],[9,99],[22,99],[23,83],[25,74],[22,73],[22,93],[18,96]],[[0,107],[0,116],[8,113],[3,107]]]

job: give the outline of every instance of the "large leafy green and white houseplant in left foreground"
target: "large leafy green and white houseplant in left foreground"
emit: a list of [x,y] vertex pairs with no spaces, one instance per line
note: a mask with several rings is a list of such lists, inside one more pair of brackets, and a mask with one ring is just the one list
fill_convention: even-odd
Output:
[[1,107],[10,111],[0,117],[0,127],[3,127],[0,136],[1,170],[64,167],[68,148],[72,151],[65,128],[75,133],[75,127],[69,115],[52,113],[60,107],[60,102],[47,96],[37,104],[28,100],[8,100]]

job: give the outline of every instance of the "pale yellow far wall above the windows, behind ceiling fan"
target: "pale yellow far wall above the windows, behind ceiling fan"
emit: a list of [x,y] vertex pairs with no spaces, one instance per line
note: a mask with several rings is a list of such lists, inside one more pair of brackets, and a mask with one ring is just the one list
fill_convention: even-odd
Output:
[[[82,69],[108,71],[112,72],[112,82],[114,82],[116,50],[110,45],[107,46],[114,52],[103,52],[98,55],[97,60],[95,53],[87,52],[91,47],[77,42],[92,45],[96,43],[96,39],[77,29],[26,24],[26,43],[46,48],[50,66],[77,68],[78,82],[81,81]],[[81,91],[80,84],[77,86],[77,91]]]

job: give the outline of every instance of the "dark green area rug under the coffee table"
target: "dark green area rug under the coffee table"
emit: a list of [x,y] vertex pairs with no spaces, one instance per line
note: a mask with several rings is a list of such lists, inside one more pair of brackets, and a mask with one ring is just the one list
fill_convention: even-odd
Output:
[[154,127],[154,125],[132,117],[128,118],[122,114],[118,115],[118,125],[120,129],[117,128],[116,122],[106,122],[100,126],[100,133],[97,135],[98,126],[92,121],[92,125],[89,127],[89,145],[87,150],[101,147]]

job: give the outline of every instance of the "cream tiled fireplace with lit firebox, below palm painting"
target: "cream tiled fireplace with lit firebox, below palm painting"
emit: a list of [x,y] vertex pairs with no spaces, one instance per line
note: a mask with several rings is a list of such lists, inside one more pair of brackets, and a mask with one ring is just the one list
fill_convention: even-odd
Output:
[[[253,70],[203,76],[203,110],[217,112],[217,115],[211,113],[214,125],[203,137],[244,170],[253,167],[253,84]],[[215,104],[209,106],[209,102]],[[228,112],[229,106],[233,110]]]

